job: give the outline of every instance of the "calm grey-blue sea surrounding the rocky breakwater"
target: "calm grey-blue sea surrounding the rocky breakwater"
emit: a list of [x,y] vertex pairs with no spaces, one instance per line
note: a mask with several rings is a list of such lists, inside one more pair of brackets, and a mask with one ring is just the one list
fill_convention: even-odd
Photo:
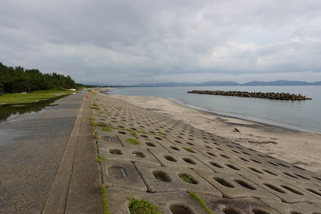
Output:
[[[274,100],[187,93],[190,90],[301,93],[312,100]],[[170,98],[179,104],[222,116],[321,134],[321,86],[133,87],[110,88],[108,93]]]

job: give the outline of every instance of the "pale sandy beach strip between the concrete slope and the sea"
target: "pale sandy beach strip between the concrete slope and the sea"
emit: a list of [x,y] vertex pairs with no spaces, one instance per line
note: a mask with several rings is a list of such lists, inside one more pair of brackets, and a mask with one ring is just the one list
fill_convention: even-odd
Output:
[[[111,95],[314,172],[321,172],[321,135],[224,117],[150,96]],[[233,132],[234,129],[240,132]]]

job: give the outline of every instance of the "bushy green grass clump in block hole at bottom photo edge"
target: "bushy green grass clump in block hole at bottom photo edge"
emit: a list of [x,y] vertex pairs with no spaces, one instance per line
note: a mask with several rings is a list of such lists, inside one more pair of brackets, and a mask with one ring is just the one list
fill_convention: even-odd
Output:
[[131,214],[161,214],[158,212],[158,206],[153,205],[150,201],[138,200],[135,197],[131,198],[131,201],[128,203],[128,208],[131,211]]

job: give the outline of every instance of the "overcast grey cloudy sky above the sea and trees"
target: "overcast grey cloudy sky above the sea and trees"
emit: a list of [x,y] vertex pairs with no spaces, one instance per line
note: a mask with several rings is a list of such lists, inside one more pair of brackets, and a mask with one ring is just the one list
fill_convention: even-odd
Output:
[[321,81],[321,2],[2,0],[0,62],[84,84]]

